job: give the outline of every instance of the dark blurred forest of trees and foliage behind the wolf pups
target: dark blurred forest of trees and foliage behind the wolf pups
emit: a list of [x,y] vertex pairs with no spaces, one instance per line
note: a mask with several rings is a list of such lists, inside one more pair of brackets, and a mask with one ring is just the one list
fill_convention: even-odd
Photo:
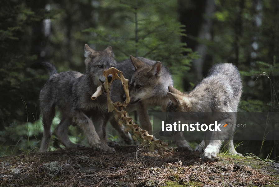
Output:
[[[239,112],[279,112],[278,20],[277,0],[2,0],[0,154],[40,146],[38,98],[48,74],[30,66],[49,61],[58,72],[83,73],[85,43],[112,46],[118,62],[129,55],[161,61],[180,91],[193,89],[212,65],[232,63],[243,81]],[[121,143],[114,130],[107,132]],[[76,126],[69,136],[87,144]],[[52,150],[63,147],[52,142]],[[236,149],[278,160],[278,143],[241,141]]]

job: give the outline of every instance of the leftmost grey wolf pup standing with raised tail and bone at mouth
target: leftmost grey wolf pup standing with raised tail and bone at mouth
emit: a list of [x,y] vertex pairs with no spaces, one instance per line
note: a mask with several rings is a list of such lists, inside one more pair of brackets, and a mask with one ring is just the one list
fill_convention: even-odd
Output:
[[103,72],[116,65],[114,54],[111,47],[95,51],[85,44],[84,49],[85,74],[76,71],[56,73],[52,64],[47,62],[42,64],[49,71],[50,77],[40,91],[39,98],[44,125],[40,152],[48,150],[55,107],[62,116],[61,122],[55,128],[55,135],[67,148],[82,146],[72,143],[67,135],[69,125],[77,124],[86,134],[91,148],[102,152],[115,151],[105,141],[106,95],[102,94],[95,100],[91,99],[92,93],[105,82]]

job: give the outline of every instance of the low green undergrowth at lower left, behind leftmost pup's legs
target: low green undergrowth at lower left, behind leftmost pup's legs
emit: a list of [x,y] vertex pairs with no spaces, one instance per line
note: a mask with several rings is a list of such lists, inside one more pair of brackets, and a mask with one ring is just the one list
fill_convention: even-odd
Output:
[[[60,122],[59,113],[54,117],[52,122],[52,132]],[[36,122],[17,122],[14,121],[8,126],[4,127],[3,131],[0,131],[0,155],[19,154],[22,152],[30,152],[32,150],[37,151],[40,147],[40,141],[42,138],[44,128],[42,124],[42,118],[39,118]],[[77,126],[70,126],[68,130],[68,136],[70,141],[79,143],[84,146],[89,146],[87,138],[82,133],[82,130]],[[114,136],[114,140],[117,136]],[[50,142],[50,150],[57,150],[64,146],[56,139],[55,135],[52,136]]]

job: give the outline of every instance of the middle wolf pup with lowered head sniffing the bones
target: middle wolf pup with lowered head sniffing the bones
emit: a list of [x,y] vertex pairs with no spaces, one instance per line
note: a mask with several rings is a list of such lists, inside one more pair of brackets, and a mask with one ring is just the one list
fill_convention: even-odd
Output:
[[[168,87],[173,86],[169,70],[159,61],[143,57],[135,58],[132,55],[130,55],[130,59],[118,63],[116,68],[123,72],[126,79],[129,79],[130,103],[126,108],[127,111],[137,110],[142,129],[149,134],[153,134],[147,109],[148,106],[161,106],[162,111],[166,111],[166,107],[170,102],[167,95]],[[123,102],[125,98],[121,81],[114,81],[111,86],[112,101]],[[110,120],[110,123],[114,128],[118,129],[126,143],[131,142],[131,138],[123,130],[119,129],[119,125],[114,119]],[[179,137],[181,135],[182,133],[177,135],[179,140],[181,140],[181,137]],[[177,144],[180,149],[188,150],[190,148],[187,141],[179,141]]]

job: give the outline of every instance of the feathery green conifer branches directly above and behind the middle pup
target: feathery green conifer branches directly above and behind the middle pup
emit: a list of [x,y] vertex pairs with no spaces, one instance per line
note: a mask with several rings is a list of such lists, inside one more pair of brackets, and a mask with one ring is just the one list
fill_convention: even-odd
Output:
[[118,61],[142,56],[162,61],[173,74],[182,75],[198,55],[180,42],[184,26],[169,11],[176,6],[165,1],[100,1],[98,26],[84,31],[92,33],[90,43],[97,48],[112,46]]

